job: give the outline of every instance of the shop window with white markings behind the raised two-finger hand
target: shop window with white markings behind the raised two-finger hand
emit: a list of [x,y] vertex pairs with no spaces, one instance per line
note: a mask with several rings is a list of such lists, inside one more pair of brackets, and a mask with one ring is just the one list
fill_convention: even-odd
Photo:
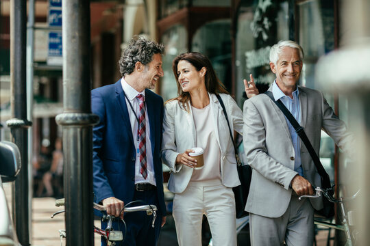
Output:
[[275,79],[269,66],[270,48],[278,40],[288,40],[288,1],[242,1],[236,24],[236,102],[243,107],[243,79],[254,75],[260,92]]

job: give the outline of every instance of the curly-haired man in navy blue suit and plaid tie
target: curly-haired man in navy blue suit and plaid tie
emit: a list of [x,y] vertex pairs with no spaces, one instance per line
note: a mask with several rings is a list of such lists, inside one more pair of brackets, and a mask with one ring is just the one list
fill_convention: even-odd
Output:
[[160,160],[163,100],[148,90],[163,76],[163,53],[163,44],[133,38],[119,61],[122,78],[91,92],[91,109],[100,117],[93,129],[95,202],[117,217],[134,200],[158,207],[154,228],[145,212],[125,215],[123,245],[156,245],[166,221]]

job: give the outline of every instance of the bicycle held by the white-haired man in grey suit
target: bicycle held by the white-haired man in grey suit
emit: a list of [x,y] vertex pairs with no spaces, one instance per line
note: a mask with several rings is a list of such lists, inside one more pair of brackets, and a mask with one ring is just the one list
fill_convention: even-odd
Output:
[[346,236],[345,246],[354,245],[353,242],[356,241],[356,236],[357,236],[358,232],[356,232],[356,230],[354,230],[351,234],[351,230],[350,230],[349,226],[354,226],[354,219],[353,219],[354,215],[353,215],[353,211],[348,211],[347,212],[347,210],[345,209],[344,202],[347,202],[349,200],[353,200],[355,197],[358,196],[358,193],[360,191],[357,191],[351,197],[346,197],[346,198],[339,197],[339,199],[335,199],[332,195],[330,195],[331,193],[329,192],[329,191],[332,191],[332,188],[322,189],[320,187],[316,187],[314,190],[316,191],[316,193],[314,195],[301,195],[298,199],[301,200],[301,198],[303,198],[303,197],[317,198],[317,197],[321,197],[321,194],[322,194],[330,202],[335,202],[335,203],[340,204],[341,213],[342,213],[341,225],[338,225],[336,223],[320,221],[318,219],[314,219],[314,223],[319,225],[319,226],[325,226],[325,227],[328,227],[328,228],[333,228],[335,230],[342,230],[343,232],[345,232],[345,236]]

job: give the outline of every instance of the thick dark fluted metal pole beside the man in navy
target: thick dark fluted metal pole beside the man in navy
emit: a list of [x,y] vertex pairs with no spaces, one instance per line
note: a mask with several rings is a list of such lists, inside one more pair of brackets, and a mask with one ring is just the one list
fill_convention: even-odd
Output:
[[66,245],[94,245],[93,124],[90,109],[90,1],[62,1]]

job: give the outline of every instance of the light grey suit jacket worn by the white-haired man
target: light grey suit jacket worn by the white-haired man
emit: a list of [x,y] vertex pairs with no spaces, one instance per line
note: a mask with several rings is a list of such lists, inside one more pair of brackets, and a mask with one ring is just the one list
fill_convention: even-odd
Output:
[[[321,129],[346,150],[352,141],[351,135],[323,94],[301,86],[298,90],[301,126],[317,154]],[[280,217],[288,208],[294,192],[290,184],[297,172],[294,171],[295,152],[286,118],[269,96],[260,94],[245,101],[243,139],[247,161],[253,168],[245,210],[264,217]],[[314,187],[321,187],[319,173],[306,146],[301,141],[300,146],[304,178]],[[310,199],[310,202],[316,209],[323,207],[321,199]]]

